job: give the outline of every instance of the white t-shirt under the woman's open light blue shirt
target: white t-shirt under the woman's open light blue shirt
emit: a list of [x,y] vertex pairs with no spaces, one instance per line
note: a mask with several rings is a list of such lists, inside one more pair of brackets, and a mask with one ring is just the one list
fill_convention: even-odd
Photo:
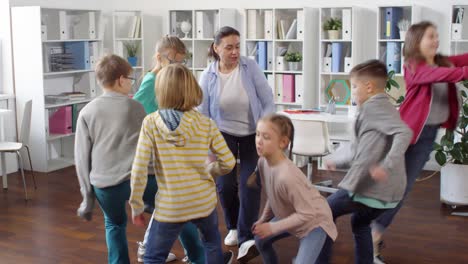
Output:
[[[253,122],[252,111],[247,93],[240,74],[239,65],[230,73],[218,71],[221,85],[219,91],[219,107],[222,124],[219,130],[235,136],[247,136],[255,133],[250,122]],[[253,131],[251,131],[253,130]]]

